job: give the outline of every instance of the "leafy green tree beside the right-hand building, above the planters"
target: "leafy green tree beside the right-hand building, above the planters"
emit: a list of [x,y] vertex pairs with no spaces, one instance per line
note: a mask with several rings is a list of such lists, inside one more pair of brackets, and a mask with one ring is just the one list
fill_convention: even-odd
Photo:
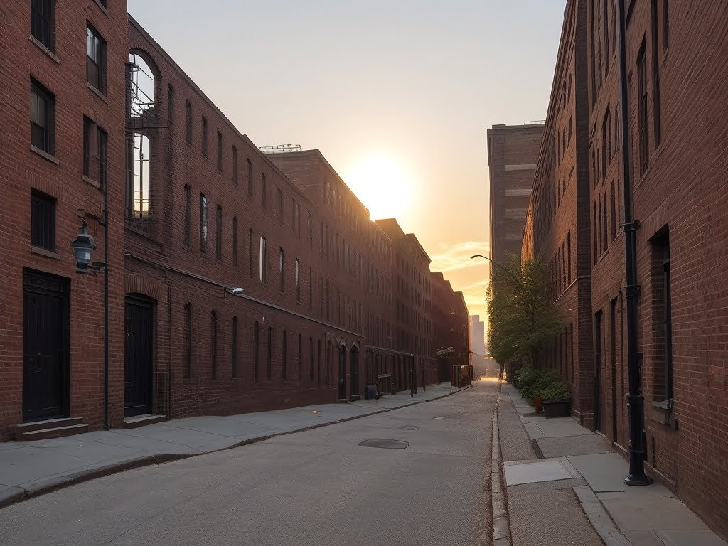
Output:
[[519,358],[535,364],[537,348],[562,331],[549,277],[540,258],[520,266],[512,260],[494,270],[488,286],[488,344],[501,365]]

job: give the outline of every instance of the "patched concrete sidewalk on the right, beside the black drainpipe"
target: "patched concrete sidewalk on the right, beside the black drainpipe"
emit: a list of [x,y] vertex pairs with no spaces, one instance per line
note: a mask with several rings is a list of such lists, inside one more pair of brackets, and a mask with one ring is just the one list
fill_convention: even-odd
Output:
[[625,486],[604,436],[536,414],[510,385],[498,411],[513,545],[727,546],[664,486]]

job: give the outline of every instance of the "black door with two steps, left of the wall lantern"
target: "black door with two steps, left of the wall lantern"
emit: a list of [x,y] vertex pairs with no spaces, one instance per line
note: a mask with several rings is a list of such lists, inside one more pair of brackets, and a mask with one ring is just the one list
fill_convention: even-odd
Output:
[[68,280],[23,272],[23,421],[68,416]]

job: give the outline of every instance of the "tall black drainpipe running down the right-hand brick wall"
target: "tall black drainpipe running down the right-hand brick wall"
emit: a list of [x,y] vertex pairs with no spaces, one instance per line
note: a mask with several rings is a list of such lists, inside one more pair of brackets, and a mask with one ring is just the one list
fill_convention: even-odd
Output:
[[620,123],[622,128],[622,196],[625,208],[625,299],[627,303],[627,355],[629,394],[625,402],[630,419],[630,473],[628,486],[647,486],[652,480],[644,473],[644,397],[640,389],[640,357],[637,351],[637,234],[638,221],[632,218],[632,185],[630,184],[630,141],[627,103],[627,44],[625,0],[617,0],[620,40]]

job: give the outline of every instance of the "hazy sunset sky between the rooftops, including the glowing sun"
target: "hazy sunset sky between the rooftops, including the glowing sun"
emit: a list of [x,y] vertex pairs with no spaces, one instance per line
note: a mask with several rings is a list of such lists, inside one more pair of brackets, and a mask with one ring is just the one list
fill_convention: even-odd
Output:
[[545,119],[565,0],[128,0],[258,146],[320,149],[485,314],[486,128]]

